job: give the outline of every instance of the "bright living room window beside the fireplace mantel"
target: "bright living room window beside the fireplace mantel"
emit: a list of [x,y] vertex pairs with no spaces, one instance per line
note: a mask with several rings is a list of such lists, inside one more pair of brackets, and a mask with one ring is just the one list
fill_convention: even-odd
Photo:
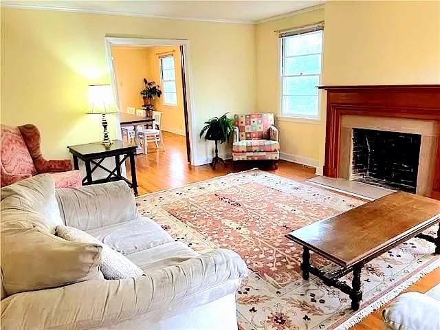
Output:
[[322,27],[311,32],[290,32],[280,36],[281,115],[318,119],[316,86],[320,84]]

